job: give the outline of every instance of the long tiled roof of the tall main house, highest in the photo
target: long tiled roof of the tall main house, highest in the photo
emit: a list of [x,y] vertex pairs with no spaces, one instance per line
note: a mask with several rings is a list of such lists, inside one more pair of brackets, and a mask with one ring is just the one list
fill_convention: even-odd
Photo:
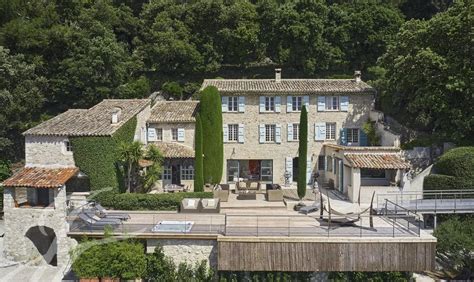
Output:
[[201,89],[215,86],[221,93],[374,93],[374,88],[354,79],[205,79]]

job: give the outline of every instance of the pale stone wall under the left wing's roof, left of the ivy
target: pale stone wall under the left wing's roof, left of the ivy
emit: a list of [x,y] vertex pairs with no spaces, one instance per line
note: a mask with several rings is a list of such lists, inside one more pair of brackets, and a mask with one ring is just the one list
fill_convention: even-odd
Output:
[[66,136],[25,136],[25,165],[36,167],[71,167],[73,152],[66,151]]

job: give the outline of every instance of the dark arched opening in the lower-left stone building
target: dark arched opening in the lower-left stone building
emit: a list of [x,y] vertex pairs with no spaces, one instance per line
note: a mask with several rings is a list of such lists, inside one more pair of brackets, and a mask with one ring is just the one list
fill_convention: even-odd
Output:
[[28,229],[25,236],[35,245],[46,263],[57,266],[57,238],[52,228],[34,226]]

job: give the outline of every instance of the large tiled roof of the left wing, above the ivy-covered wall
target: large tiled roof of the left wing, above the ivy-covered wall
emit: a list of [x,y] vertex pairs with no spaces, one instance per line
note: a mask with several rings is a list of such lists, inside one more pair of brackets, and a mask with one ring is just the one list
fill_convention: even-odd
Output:
[[[149,104],[149,99],[105,99],[90,109],[68,110],[23,135],[110,136]],[[112,124],[112,113],[117,109],[119,121]]]

